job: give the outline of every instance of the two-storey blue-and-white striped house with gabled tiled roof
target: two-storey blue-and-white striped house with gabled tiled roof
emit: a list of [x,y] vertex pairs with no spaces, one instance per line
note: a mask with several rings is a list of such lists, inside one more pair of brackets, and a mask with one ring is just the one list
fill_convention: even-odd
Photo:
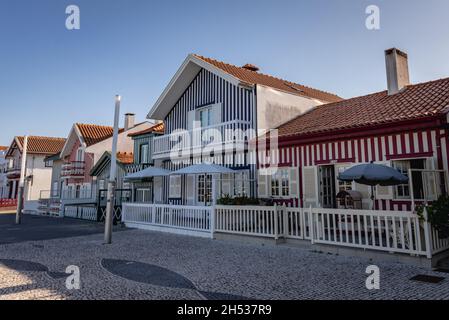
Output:
[[[207,205],[224,194],[256,196],[256,164],[237,153],[235,146],[247,140],[240,134],[220,140],[220,148],[205,156],[204,147],[214,141],[207,131],[221,137],[229,130],[266,130],[311,108],[341,99],[258,72],[251,64],[237,67],[199,55],[189,55],[148,114],[161,119],[165,133],[154,137],[155,166],[177,170],[192,164],[213,162],[237,170],[234,177],[171,175],[158,179],[163,192],[156,203]],[[246,141],[246,142],[245,142]],[[178,156],[173,157],[176,148]],[[217,151],[219,150],[219,151]],[[212,195],[212,180],[220,179]]]

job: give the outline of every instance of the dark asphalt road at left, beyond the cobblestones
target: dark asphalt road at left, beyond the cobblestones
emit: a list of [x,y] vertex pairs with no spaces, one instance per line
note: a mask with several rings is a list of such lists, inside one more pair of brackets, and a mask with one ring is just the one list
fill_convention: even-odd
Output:
[[103,232],[104,224],[91,221],[24,215],[22,224],[16,225],[14,214],[0,215],[0,244],[78,237]]

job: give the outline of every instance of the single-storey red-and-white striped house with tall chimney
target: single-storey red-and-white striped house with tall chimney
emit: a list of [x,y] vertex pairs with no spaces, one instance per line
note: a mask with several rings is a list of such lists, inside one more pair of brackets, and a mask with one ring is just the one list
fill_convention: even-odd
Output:
[[[407,55],[385,52],[388,90],[314,108],[278,127],[279,170],[259,175],[259,196],[290,206],[337,208],[354,190],[369,208],[370,188],[341,182],[354,164],[380,163],[409,183],[376,188],[376,208],[411,210],[448,190],[449,78],[409,84]],[[262,164],[261,167],[264,167]]]

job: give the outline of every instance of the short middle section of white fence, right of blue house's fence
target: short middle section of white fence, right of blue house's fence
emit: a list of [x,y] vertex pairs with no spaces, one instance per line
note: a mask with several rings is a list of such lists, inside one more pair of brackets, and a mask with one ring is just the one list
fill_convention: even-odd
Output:
[[279,207],[215,206],[215,231],[261,237],[282,235]]

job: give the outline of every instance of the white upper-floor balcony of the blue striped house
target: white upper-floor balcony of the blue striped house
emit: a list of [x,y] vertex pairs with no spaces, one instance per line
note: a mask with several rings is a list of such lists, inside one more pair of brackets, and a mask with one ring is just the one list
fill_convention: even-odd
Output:
[[[250,122],[234,120],[154,137],[153,159],[168,158],[171,152],[183,153],[186,156],[201,154],[206,146],[221,146],[224,151],[243,148],[255,135],[255,132],[249,129]],[[188,154],[184,153],[185,151],[189,151]]]

